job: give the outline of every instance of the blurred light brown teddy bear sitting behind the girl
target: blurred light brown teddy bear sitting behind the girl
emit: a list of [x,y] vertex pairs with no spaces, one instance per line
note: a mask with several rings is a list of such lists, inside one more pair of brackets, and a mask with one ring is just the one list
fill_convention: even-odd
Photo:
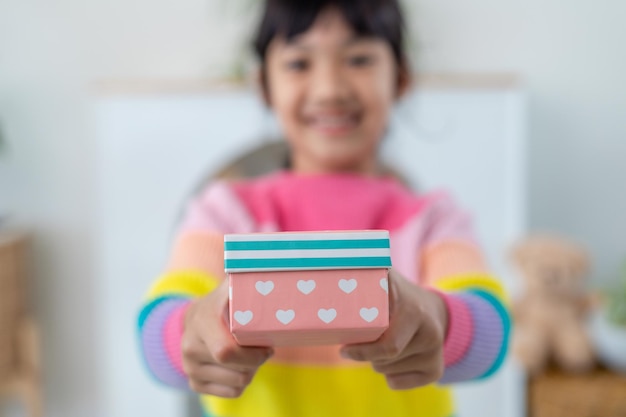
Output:
[[586,252],[564,239],[530,236],[513,247],[512,258],[525,283],[513,303],[513,355],[531,374],[541,372],[549,359],[567,371],[590,369]]

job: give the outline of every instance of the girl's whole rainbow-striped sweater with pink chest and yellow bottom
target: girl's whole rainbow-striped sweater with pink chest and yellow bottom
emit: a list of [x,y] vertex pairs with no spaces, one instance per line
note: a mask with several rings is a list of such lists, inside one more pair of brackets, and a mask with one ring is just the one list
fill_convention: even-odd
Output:
[[187,388],[180,342],[193,297],[224,279],[223,235],[273,231],[389,230],[393,267],[437,289],[448,308],[445,372],[438,384],[389,389],[338,346],[276,348],[237,399],[201,398],[216,417],[450,417],[446,384],[486,378],[507,351],[504,292],[489,275],[468,216],[445,193],[415,195],[391,178],[278,172],[215,182],[189,207],[169,265],[139,315],[145,362],[159,381]]

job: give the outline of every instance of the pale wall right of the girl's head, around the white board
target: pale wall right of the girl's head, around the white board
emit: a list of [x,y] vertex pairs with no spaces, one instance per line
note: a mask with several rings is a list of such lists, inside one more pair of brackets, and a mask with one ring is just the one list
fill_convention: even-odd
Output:
[[626,3],[416,1],[429,71],[512,71],[529,89],[530,224],[577,239],[595,278],[626,258]]

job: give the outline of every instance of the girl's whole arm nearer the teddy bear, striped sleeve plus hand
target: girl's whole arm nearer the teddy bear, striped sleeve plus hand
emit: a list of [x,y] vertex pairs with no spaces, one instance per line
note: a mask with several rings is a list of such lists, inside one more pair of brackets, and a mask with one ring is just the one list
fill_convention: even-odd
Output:
[[[486,272],[467,217],[442,196],[419,214],[415,220],[422,228],[415,238],[426,248],[419,261],[421,279],[410,282],[392,270],[389,328],[374,342],[341,351],[371,362],[393,389],[487,377],[507,350],[504,292]],[[415,246],[397,249],[410,253]]]

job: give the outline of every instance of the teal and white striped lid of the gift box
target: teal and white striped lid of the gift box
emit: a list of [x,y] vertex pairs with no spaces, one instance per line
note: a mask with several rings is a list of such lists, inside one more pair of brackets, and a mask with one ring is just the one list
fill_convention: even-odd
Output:
[[224,235],[231,272],[391,268],[386,230]]

